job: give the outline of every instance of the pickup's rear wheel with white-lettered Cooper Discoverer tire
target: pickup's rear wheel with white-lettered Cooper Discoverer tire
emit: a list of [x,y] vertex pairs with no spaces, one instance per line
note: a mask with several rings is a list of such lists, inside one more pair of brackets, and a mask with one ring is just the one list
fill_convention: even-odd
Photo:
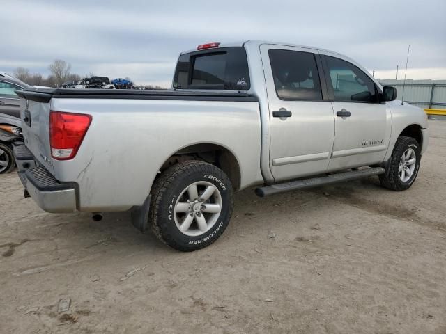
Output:
[[213,244],[233,210],[233,189],[226,174],[203,161],[171,166],[154,182],[148,220],[165,244],[189,252]]

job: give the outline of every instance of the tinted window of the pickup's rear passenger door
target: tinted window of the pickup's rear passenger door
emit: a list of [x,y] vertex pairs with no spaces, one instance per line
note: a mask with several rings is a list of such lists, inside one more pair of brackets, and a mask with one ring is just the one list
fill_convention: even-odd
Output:
[[282,100],[322,100],[321,82],[314,54],[270,49],[272,77]]

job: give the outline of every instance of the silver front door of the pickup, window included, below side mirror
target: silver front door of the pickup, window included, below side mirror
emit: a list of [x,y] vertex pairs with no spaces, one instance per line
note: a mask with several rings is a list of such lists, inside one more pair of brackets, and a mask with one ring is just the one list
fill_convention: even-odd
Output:
[[374,81],[339,56],[321,56],[328,96],[334,110],[335,133],[328,170],[378,164],[390,140],[390,110],[378,99]]

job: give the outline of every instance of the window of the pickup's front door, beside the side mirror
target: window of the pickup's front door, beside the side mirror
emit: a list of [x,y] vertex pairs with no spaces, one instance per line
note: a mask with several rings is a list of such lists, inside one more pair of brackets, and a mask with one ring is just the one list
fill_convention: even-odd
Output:
[[[377,102],[374,81],[355,65],[339,58],[325,56],[334,100]],[[330,83],[329,83],[330,84]]]

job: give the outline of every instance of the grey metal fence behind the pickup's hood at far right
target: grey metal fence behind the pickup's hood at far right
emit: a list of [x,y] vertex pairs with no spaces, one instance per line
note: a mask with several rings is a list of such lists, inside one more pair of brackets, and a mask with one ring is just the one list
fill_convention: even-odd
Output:
[[[403,80],[379,80],[383,86],[397,88],[397,99],[403,95]],[[420,108],[446,109],[446,80],[406,80],[404,101]]]

